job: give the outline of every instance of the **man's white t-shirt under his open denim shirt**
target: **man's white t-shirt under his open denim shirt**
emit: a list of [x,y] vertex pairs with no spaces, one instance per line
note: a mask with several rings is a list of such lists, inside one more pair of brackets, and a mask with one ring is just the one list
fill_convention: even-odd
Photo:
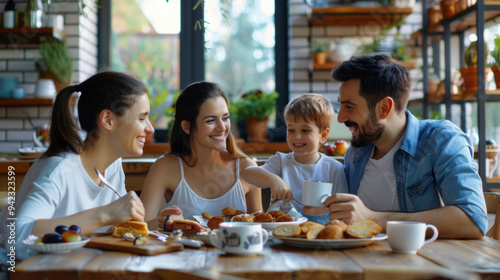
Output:
[[359,184],[358,196],[365,206],[373,211],[399,211],[393,159],[403,137],[378,160],[373,159],[374,146],[370,159],[366,163],[363,178]]

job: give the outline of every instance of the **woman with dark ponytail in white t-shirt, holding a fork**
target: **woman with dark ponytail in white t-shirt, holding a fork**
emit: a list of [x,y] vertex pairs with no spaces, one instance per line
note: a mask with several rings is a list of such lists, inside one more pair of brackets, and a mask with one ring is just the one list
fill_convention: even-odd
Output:
[[[79,126],[69,106],[75,92],[81,93]],[[146,135],[154,132],[148,120],[149,110],[144,85],[117,72],[95,74],[57,94],[51,114],[50,145],[31,166],[16,193],[18,260],[34,253],[21,240],[30,234],[54,232],[58,225],[75,224],[82,235],[88,235],[105,225],[144,221],[140,199],[135,192],[125,190],[121,157],[142,155]],[[94,168],[118,193],[102,184]],[[0,228],[0,259],[5,264],[6,251],[9,253],[14,246],[5,225],[14,216],[6,208],[0,214],[4,225]]]

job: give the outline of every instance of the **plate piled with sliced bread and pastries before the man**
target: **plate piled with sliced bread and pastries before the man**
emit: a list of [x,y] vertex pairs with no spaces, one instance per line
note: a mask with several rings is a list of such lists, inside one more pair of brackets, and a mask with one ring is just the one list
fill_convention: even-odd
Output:
[[285,244],[301,248],[345,249],[367,246],[384,240],[382,228],[368,219],[360,219],[346,224],[331,220],[325,225],[307,221],[301,224],[280,225],[274,228],[272,236]]

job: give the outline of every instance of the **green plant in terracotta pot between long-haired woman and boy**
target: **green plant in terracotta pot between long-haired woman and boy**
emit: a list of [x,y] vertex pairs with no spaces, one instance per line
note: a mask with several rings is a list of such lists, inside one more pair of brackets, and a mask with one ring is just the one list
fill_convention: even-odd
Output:
[[245,120],[249,142],[267,142],[267,120],[276,110],[277,92],[266,93],[260,89],[243,93],[230,104],[236,119]]

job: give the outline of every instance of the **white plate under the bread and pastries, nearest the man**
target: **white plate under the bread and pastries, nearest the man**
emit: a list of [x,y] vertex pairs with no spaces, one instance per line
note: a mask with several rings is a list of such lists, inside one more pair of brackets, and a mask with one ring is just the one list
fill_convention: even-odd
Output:
[[277,238],[290,246],[309,248],[309,249],[356,248],[356,247],[370,245],[371,243],[378,240],[387,239],[387,235],[384,233],[380,233],[373,238],[366,238],[366,239],[306,239],[297,237],[280,237],[274,235],[272,235],[272,237]]

